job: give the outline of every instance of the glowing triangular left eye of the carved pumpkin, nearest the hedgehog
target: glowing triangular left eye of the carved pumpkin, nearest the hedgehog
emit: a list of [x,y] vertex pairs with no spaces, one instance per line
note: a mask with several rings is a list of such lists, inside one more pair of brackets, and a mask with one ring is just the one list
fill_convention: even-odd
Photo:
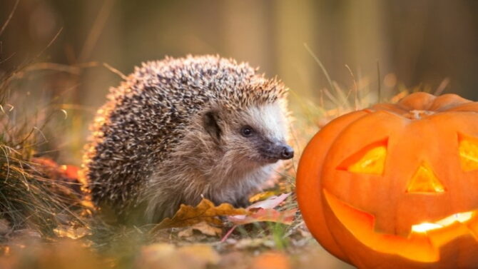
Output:
[[352,173],[382,175],[387,158],[388,140],[377,141],[360,149],[337,167]]

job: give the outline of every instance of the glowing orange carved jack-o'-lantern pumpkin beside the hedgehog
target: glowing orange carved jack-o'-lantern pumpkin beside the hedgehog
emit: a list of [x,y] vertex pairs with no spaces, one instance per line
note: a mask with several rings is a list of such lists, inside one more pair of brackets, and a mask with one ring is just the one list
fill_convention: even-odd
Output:
[[478,268],[478,103],[412,93],[336,118],[296,191],[312,235],[358,268]]

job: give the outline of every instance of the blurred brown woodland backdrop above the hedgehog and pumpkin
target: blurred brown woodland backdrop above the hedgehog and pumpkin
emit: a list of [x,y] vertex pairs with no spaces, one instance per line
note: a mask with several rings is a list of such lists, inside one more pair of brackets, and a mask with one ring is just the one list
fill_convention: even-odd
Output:
[[295,111],[330,88],[310,51],[345,91],[355,80],[375,96],[380,81],[384,95],[421,85],[477,99],[477,12],[473,0],[1,0],[0,25],[10,21],[0,30],[0,72],[29,65],[29,94],[62,96],[74,127],[63,146],[73,153],[59,154],[79,163],[88,121],[118,73],[164,56],[260,66],[292,89]]

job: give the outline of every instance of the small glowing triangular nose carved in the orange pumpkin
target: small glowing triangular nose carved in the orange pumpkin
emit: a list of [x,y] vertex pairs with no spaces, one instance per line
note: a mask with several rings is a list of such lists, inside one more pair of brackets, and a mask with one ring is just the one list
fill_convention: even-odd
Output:
[[427,163],[422,163],[408,181],[407,193],[443,193],[444,186]]

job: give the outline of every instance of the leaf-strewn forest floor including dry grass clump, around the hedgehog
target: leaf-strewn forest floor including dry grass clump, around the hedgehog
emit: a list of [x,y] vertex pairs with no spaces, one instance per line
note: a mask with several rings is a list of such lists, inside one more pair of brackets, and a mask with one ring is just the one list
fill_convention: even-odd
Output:
[[[156,225],[106,224],[81,191],[79,168],[49,157],[61,151],[51,147],[66,109],[31,94],[22,71],[0,73],[0,268],[350,268],[302,220],[298,158],[248,208],[203,200]],[[317,124],[293,133],[296,148]]]

